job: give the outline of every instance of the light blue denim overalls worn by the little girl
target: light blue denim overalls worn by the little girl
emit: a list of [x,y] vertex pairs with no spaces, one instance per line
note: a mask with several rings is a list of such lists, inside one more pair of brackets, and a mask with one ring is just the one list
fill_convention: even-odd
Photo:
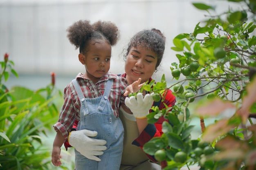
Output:
[[119,117],[115,117],[108,100],[113,79],[107,81],[103,96],[97,98],[85,98],[76,79],[72,82],[81,102],[77,130],[95,130],[98,135],[92,138],[107,141],[105,145],[107,150],[99,156],[101,161],[87,159],[75,150],[76,170],[119,170],[123,152],[124,127]]

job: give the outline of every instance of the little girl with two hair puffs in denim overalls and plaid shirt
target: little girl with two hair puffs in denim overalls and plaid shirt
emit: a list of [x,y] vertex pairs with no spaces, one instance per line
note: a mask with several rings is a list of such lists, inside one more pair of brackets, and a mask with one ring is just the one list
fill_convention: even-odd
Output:
[[[67,38],[76,49],[85,73],[79,73],[64,89],[64,104],[52,149],[52,163],[60,166],[60,153],[74,121],[78,130],[97,131],[96,139],[107,141],[104,154],[95,161],[75,150],[76,170],[119,170],[123,151],[124,128],[119,119],[119,106],[124,103],[128,82],[109,73],[111,46],[119,38],[117,26],[111,22],[88,20],[75,22],[67,29]],[[81,141],[83,142],[83,141]]]

